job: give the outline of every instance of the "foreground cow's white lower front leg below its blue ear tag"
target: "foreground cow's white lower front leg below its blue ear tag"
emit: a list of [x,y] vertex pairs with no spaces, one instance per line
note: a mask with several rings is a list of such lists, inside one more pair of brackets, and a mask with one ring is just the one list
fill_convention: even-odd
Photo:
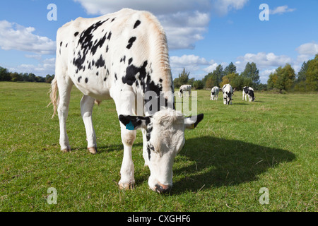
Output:
[[134,189],[134,162],[131,157],[131,147],[136,138],[136,130],[127,130],[124,126],[122,129],[122,143],[124,144],[124,157],[122,159],[122,168],[120,169],[120,189]]

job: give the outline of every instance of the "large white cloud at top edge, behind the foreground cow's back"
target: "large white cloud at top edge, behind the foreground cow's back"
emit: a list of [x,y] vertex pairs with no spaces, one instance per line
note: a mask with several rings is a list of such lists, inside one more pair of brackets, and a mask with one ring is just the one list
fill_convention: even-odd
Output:
[[211,11],[223,16],[233,8],[242,8],[248,0],[73,1],[92,15],[113,13],[122,8],[150,11],[162,23],[170,49],[194,49],[195,43],[204,39]]

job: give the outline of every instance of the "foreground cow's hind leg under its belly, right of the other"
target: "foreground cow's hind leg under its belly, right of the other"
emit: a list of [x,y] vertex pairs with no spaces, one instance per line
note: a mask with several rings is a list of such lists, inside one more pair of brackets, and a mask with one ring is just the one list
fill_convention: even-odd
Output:
[[97,153],[96,135],[93,127],[92,112],[94,107],[95,99],[93,97],[83,95],[81,100],[81,115],[83,117],[86,139],[88,142],[88,151],[92,154]]

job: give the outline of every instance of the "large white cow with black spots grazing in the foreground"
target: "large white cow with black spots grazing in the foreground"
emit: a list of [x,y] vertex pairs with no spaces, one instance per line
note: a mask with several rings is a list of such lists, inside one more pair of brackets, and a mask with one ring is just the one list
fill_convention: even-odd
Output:
[[[90,153],[97,151],[94,100],[115,102],[124,145],[119,187],[134,188],[131,147],[136,129],[141,129],[143,158],[151,172],[148,185],[159,193],[170,191],[175,155],[185,142],[184,129],[194,129],[203,114],[184,118],[174,109],[167,40],[158,20],[151,13],[124,8],[98,18],[77,18],[59,28],[50,98],[59,116],[64,152],[71,150],[66,118],[72,85],[83,93],[81,115]],[[135,106],[140,104],[144,107],[136,116]]]

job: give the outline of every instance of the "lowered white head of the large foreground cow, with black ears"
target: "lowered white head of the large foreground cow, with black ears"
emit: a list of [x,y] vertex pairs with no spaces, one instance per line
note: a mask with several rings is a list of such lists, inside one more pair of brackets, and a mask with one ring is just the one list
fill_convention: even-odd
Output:
[[[153,191],[165,193],[172,188],[172,165],[175,156],[182,149],[184,130],[194,129],[204,114],[184,117],[181,112],[165,109],[149,117],[119,115],[125,126],[132,124],[134,129],[146,129],[148,167],[151,175],[148,185]],[[132,128],[132,126],[131,126]]]

